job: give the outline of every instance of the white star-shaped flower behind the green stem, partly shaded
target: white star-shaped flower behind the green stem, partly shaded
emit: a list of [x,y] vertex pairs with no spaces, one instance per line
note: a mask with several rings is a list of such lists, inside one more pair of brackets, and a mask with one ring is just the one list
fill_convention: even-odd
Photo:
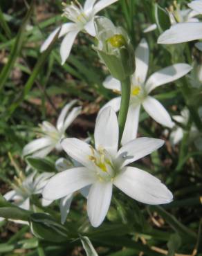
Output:
[[[158,102],[149,93],[156,87],[167,84],[178,78],[186,75],[192,67],[188,64],[178,63],[166,68],[160,69],[153,73],[147,80],[147,70],[149,64],[149,46],[145,39],[142,39],[138,48],[136,48],[136,71],[131,76],[131,99],[129,105],[129,112],[125,124],[125,130],[122,136],[122,145],[129,140],[136,138],[138,130],[138,120],[140,113],[140,106],[143,105],[145,111],[156,122],[166,127],[172,127],[172,120],[169,113],[165,110],[162,104]],[[104,81],[104,87],[120,92],[120,82],[109,76]],[[113,98],[104,107],[111,106],[114,111],[120,109],[120,97]]]

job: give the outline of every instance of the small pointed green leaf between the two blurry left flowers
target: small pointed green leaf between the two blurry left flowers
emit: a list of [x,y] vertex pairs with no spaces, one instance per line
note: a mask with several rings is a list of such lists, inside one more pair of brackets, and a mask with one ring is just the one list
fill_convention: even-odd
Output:
[[55,172],[55,165],[47,159],[28,156],[26,158],[28,164],[39,172]]

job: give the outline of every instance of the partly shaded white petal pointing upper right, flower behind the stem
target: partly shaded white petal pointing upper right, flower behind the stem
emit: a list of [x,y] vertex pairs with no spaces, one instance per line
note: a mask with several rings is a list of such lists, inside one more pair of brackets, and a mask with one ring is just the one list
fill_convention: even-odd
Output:
[[154,90],[156,87],[173,82],[192,70],[192,66],[185,63],[178,63],[166,68],[160,69],[160,71],[152,74],[146,83],[147,93]]

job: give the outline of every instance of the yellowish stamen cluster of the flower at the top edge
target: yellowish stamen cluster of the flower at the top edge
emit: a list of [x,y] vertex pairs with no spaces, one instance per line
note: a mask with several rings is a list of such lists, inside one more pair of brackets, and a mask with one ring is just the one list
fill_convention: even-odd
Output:
[[64,6],[63,15],[76,24],[84,26],[89,21],[89,17],[77,0],[72,1],[71,4],[62,3],[62,5]]

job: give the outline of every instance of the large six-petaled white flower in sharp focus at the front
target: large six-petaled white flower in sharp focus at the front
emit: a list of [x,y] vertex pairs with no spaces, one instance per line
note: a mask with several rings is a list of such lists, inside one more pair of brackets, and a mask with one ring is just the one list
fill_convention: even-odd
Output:
[[104,221],[111,202],[112,188],[148,204],[169,203],[172,193],[152,174],[127,166],[163,145],[163,140],[137,138],[118,149],[118,120],[108,107],[95,123],[95,149],[77,138],[62,140],[66,153],[82,164],[53,176],[43,191],[45,199],[55,200],[91,185],[87,212],[92,226]]

